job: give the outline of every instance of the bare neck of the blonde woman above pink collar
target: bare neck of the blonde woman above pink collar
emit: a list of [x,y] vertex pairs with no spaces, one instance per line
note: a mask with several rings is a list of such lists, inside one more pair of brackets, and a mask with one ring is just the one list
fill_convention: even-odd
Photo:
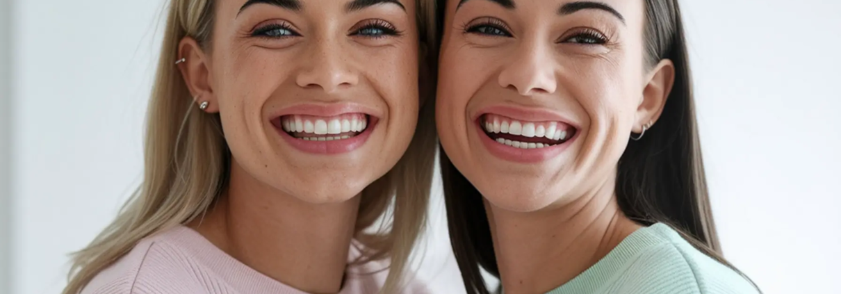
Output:
[[262,184],[234,161],[225,195],[203,220],[190,225],[263,275],[309,293],[336,293],[346,270],[359,198],[304,202]]

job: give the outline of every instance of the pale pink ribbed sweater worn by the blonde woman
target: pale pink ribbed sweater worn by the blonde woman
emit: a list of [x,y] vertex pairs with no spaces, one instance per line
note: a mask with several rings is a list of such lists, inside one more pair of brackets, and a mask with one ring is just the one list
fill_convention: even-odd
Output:
[[[351,246],[349,257],[359,255],[358,249]],[[374,261],[350,268],[339,293],[377,293],[388,275],[388,270],[383,270],[387,266],[386,262]],[[377,273],[357,274],[370,272]],[[419,283],[409,283],[401,291],[428,292]],[[198,232],[183,226],[143,239],[82,290],[82,294],[129,293],[305,294],[242,264]]]

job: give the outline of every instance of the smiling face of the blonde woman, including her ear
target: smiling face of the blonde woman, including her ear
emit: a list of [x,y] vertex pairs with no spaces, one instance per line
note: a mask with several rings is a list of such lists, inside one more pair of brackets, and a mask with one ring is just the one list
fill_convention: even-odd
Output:
[[234,169],[317,203],[354,197],[396,164],[418,118],[414,1],[215,4],[207,48],[185,39],[181,51]]

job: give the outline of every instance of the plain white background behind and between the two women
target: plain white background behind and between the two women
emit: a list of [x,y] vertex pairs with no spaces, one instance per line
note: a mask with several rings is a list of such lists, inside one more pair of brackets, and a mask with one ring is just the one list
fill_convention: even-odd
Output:
[[[59,292],[138,184],[161,3],[0,0],[0,293]],[[727,258],[765,293],[841,293],[841,3],[682,3]],[[421,276],[447,289],[433,204]]]

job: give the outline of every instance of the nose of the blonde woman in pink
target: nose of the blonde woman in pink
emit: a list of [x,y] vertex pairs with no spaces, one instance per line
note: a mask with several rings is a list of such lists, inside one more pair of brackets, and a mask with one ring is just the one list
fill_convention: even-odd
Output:
[[357,85],[359,74],[348,60],[350,55],[336,43],[327,38],[313,42],[308,53],[299,60],[304,64],[295,78],[299,87],[320,87],[325,92],[336,92]]

